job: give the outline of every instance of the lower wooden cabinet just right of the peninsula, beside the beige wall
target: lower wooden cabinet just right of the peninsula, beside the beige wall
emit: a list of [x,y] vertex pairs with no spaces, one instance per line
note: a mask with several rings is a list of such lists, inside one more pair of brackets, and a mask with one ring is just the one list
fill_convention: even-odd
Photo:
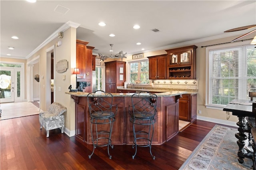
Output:
[[188,122],[195,121],[197,115],[197,94],[184,94],[179,102],[179,119]]

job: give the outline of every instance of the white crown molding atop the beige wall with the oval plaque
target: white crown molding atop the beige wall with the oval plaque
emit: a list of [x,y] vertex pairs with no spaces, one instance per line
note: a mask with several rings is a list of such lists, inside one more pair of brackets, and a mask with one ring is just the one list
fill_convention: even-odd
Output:
[[[59,32],[64,32],[66,31],[68,28],[70,27],[74,27],[74,28],[78,28],[80,26],[80,24],[72,22],[72,21],[68,21],[65,24],[63,24],[62,26],[60,26],[60,28],[58,28],[54,33],[52,33],[46,40],[44,40],[44,42],[42,42],[40,45],[38,45],[38,47],[36,47],[36,49],[34,49],[31,53],[29,53],[25,59],[28,59],[29,57],[31,57],[34,53],[36,53],[37,51],[39,51],[42,47],[44,47],[46,44],[48,44],[49,42],[51,42],[54,38],[58,37]],[[23,58],[24,59],[24,58]]]

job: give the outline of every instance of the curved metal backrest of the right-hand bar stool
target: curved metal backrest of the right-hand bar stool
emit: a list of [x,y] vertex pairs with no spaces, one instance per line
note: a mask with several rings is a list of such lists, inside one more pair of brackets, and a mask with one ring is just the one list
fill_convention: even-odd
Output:
[[[148,117],[149,115],[156,115],[157,96],[150,92],[134,93],[132,95],[132,117],[134,114],[140,114],[140,117]],[[130,109],[129,109],[130,112]]]

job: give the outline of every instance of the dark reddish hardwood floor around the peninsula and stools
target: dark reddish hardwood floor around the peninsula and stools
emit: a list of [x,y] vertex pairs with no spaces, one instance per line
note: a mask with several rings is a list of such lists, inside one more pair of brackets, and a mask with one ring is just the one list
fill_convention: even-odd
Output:
[[162,145],[153,145],[153,160],[149,148],[138,148],[135,159],[131,145],[114,145],[108,158],[106,147],[82,145],[75,137],[61,134],[60,129],[40,130],[38,115],[0,121],[1,170],[66,170],[66,169],[163,169],[176,170],[184,163],[208,132],[216,125],[197,120]]

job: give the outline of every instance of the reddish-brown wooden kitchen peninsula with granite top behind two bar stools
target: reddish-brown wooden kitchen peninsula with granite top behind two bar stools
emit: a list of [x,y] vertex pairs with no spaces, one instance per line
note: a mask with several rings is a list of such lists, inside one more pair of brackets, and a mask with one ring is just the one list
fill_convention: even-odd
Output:
[[[155,116],[154,136],[152,144],[163,144],[175,136],[179,125],[179,99],[186,91],[169,91],[156,93],[157,113]],[[92,143],[90,135],[90,115],[86,92],[66,92],[74,99],[76,139],[84,143]],[[112,144],[133,144],[132,123],[130,123],[129,105],[134,93],[112,93],[113,103],[118,105],[118,113],[112,131]]]

